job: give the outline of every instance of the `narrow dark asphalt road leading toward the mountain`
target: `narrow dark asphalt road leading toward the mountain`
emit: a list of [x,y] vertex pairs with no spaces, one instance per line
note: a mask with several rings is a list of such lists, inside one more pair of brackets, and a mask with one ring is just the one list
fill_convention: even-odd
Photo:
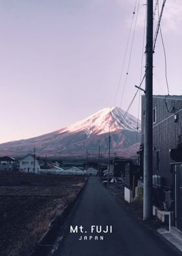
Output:
[[[75,231],[78,227],[78,232],[70,232],[70,225]],[[102,232],[94,232],[96,227],[92,226],[96,225],[101,225]],[[110,225],[112,232],[103,232],[107,231],[106,226],[110,231]],[[83,229],[79,229],[80,226]],[[84,237],[88,240],[83,240]],[[154,255],[176,256],[181,253],[173,251],[157,234],[140,225],[96,177],[90,177],[55,256]]]

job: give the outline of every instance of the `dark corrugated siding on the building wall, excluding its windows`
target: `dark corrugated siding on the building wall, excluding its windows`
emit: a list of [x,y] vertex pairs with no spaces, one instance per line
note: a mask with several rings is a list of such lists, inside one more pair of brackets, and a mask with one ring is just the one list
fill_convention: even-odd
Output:
[[[142,113],[144,110],[144,96],[142,96]],[[175,112],[182,109],[181,101],[175,99],[166,99],[168,109],[175,107]],[[169,113],[165,99],[153,97],[153,107],[156,106],[156,123],[153,127],[153,174],[160,175],[164,178],[164,185],[171,187],[172,174],[170,172],[170,148],[176,148],[179,135],[182,135],[182,110],[179,111],[178,121],[175,123],[174,114]],[[166,120],[166,118],[168,118]],[[163,121],[165,120],[165,121]],[[162,122],[161,122],[162,121]],[[161,122],[161,123],[160,123]],[[142,114],[142,142],[144,142],[144,116]],[[157,170],[156,151],[160,150],[160,170]]]

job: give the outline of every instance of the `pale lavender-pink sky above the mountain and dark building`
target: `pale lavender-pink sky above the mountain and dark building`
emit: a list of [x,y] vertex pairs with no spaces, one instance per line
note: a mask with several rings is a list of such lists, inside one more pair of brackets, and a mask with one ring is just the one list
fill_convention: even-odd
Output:
[[[0,142],[49,133],[114,105],[135,3],[137,10],[138,0],[0,0]],[[139,2],[123,110],[140,82],[145,3]],[[156,21],[157,12],[154,31]],[[181,0],[167,0],[161,27],[170,95],[182,94],[181,26]],[[153,57],[153,93],[166,94],[161,37]],[[138,97],[130,113],[137,117]]]

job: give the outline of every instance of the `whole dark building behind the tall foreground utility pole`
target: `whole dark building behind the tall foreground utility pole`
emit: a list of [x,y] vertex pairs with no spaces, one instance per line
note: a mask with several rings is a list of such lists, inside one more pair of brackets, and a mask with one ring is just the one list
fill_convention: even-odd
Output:
[[[143,162],[145,96],[142,95]],[[182,95],[153,95],[153,202],[174,212],[174,225],[182,231]],[[155,200],[157,199],[157,200]]]

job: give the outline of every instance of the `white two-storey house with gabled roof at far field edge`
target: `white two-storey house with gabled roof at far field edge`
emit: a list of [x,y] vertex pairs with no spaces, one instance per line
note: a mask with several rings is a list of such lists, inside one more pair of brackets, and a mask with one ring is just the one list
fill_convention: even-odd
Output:
[[38,173],[40,170],[40,163],[34,155],[26,155],[19,161],[19,170],[21,172],[34,172]]

